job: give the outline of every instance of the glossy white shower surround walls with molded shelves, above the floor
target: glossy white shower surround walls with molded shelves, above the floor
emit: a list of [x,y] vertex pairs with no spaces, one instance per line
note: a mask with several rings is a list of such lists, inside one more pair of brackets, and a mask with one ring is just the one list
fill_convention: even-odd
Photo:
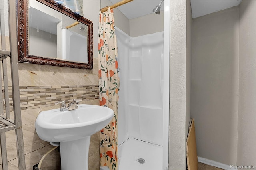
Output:
[[132,38],[116,29],[116,36],[120,66],[119,146],[128,138],[162,146],[164,32]]

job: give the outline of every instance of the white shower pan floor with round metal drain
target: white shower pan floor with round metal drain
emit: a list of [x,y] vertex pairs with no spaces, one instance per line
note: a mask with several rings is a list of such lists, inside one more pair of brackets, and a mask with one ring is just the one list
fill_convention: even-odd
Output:
[[162,149],[162,146],[129,138],[123,144],[118,146],[118,169],[162,170]]

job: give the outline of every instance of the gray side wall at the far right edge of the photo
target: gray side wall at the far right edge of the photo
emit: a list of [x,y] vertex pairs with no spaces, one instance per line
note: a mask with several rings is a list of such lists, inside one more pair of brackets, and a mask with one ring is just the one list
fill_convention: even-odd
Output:
[[237,165],[256,166],[256,1],[239,5]]

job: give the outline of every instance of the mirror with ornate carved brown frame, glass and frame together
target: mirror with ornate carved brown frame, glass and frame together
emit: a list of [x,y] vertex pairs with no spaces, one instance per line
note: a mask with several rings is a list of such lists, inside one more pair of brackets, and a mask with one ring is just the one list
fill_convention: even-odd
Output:
[[54,0],[18,0],[18,60],[92,69],[92,27]]

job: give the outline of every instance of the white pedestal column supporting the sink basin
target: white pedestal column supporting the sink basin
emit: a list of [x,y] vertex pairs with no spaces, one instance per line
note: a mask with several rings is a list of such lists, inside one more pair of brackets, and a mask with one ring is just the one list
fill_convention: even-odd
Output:
[[88,170],[90,138],[60,142],[62,170]]

